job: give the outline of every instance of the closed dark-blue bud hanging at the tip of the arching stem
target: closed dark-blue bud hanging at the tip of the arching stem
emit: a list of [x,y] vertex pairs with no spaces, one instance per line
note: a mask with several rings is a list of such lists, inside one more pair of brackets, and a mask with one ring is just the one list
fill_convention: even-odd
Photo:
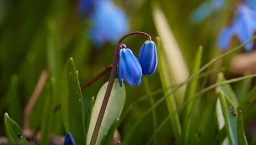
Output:
[[139,63],[141,64],[142,73],[151,75],[158,66],[156,45],[152,40],[147,40],[139,51]]

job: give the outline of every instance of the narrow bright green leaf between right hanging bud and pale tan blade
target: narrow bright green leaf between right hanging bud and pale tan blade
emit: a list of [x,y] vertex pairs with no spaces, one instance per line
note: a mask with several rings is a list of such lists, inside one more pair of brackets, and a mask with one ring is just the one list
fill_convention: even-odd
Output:
[[[168,75],[168,70],[166,68],[166,57],[163,55],[162,45],[160,43],[160,39],[156,38],[156,48],[158,52],[158,71],[160,75],[160,80],[162,82],[163,88],[168,88],[171,86],[170,76]],[[168,94],[168,90],[164,90],[164,95]],[[179,114],[175,113],[177,110],[176,101],[174,95],[171,94],[170,96],[166,97],[166,103],[168,107],[168,112],[172,116],[171,118],[171,126],[172,131],[174,132],[176,142],[179,142],[180,134],[181,134],[181,125]]]

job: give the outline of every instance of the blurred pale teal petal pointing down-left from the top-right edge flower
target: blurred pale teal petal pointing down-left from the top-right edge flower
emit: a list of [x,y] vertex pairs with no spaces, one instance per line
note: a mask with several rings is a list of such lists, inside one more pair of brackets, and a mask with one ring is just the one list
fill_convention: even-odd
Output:
[[212,3],[210,1],[206,1],[192,12],[192,14],[189,16],[189,21],[191,23],[200,23],[205,18],[207,18],[212,12]]

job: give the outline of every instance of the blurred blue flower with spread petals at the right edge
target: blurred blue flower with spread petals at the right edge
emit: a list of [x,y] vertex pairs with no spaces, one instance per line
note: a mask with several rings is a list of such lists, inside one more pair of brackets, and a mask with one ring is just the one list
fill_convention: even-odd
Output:
[[[249,9],[245,5],[238,7],[236,18],[233,23],[224,28],[218,38],[218,45],[222,51],[228,48],[229,40],[233,35],[236,35],[241,43],[245,43],[247,40],[253,37],[254,31],[256,30],[256,12]],[[246,51],[253,49],[253,42],[245,45]]]

